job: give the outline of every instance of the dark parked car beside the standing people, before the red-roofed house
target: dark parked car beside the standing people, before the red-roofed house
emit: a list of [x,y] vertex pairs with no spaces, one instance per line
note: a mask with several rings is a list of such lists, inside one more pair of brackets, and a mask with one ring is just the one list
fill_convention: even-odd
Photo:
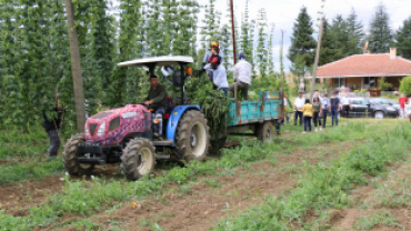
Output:
[[[378,101],[362,98],[353,97],[350,98],[352,109],[349,111],[349,118],[398,118],[399,113],[393,106],[380,104]],[[340,111],[342,118],[347,118],[347,113]]]

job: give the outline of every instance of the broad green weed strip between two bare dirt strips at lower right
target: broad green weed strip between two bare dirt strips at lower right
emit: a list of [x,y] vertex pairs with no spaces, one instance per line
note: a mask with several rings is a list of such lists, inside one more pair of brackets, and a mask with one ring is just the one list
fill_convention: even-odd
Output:
[[387,163],[403,159],[410,138],[410,128],[395,128],[342,155],[330,168],[323,163],[315,169],[308,167],[308,174],[289,195],[269,197],[239,217],[222,220],[215,230],[292,230],[290,222],[303,224],[310,209],[342,209],[350,190],[368,183],[364,175],[375,175],[387,169]]

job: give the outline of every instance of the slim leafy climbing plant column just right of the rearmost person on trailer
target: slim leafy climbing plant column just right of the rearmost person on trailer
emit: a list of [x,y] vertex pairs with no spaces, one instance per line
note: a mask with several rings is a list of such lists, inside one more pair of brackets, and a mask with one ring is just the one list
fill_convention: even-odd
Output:
[[258,27],[258,44],[257,44],[257,63],[258,70],[262,78],[268,74],[268,38],[267,38],[267,13],[265,9],[261,8],[259,10],[257,27]]

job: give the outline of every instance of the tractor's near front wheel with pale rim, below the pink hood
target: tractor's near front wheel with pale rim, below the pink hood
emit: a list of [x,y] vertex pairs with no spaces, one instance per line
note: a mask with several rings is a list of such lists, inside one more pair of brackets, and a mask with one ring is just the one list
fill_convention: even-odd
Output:
[[138,180],[154,171],[156,148],[148,139],[130,140],[122,151],[121,170],[128,180]]

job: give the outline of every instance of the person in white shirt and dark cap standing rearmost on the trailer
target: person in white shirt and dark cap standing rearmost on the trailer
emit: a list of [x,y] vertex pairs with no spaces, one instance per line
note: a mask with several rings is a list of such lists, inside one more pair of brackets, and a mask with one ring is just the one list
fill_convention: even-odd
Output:
[[[239,61],[234,66],[234,82],[237,83],[237,90],[241,90],[242,98],[249,100],[249,86],[251,84],[251,64],[245,61],[243,52],[239,56]],[[229,91],[234,91],[234,84],[231,84]]]

